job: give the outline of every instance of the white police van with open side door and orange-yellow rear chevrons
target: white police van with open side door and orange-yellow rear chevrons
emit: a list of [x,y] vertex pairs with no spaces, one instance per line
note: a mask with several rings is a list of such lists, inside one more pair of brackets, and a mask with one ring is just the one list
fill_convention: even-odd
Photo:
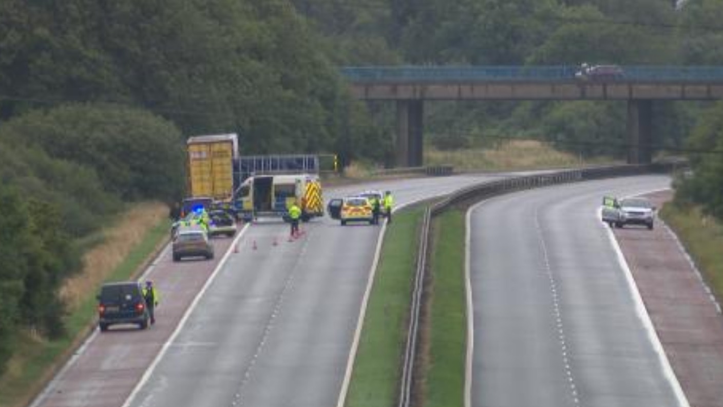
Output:
[[317,175],[254,175],[241,184],[236,196],[238,216],[246,221],[259,217],[288,220],[288,207],[296,201],[301,220],[324,216],[321,182]]

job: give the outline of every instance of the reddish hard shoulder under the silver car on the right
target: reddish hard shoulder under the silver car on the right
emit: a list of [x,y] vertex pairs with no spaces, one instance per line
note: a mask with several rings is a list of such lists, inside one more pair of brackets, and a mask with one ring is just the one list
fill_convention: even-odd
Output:
[[[648,197],[660,207],[672,191]],[[683,247],[659,220],[615,238],[690,406],[723,407],[723,316]]]

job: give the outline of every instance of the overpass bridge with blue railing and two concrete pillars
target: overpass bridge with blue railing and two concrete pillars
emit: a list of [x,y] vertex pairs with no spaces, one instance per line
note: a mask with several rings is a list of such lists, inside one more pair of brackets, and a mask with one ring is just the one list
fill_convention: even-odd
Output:
[[578,66],[344,67],[361,100],[397,104],[396,163],[422,165],[424,101],[627,101],[628,162],[652,158],[652,102],[723,98],[723,67],[620,66],[618,75],[578,75]]

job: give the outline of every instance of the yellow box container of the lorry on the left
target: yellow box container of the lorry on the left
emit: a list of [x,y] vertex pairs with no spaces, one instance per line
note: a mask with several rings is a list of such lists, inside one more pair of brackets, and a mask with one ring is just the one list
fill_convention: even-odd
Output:
[[236,133],[197,135],[187,140],[187,196],[231,201],[234,161],[239,158]]

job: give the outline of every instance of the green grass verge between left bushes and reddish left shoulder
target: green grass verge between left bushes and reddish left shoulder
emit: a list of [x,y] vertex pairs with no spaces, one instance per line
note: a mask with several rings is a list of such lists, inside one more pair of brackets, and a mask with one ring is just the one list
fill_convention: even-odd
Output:
[[[147,259],[158,251],[166,238],[168,220],[166,217],[156,216],[155,222],[143,230],[139,243],[129,249],[104,280],[129,280],[137,277]],[[94,287],[77,298],[65,319],[67,335],[64,337],[45,340],[31,335],[30,332],[17,333],[18,346],[9,361],[6,374],[0,377],[1,407],[27,406],[72,355],[74,349],[92,332],[95,327],[93,321],[96,293],[97,287]]]

